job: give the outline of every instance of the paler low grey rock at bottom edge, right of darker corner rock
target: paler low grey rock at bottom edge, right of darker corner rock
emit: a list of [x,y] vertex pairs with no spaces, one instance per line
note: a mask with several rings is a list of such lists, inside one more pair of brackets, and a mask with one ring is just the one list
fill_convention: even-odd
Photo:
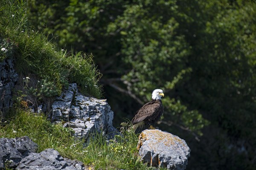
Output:
[[23,158],[16,170],[84,170],[79,161],[63,158],[57,150],[46,149]]

